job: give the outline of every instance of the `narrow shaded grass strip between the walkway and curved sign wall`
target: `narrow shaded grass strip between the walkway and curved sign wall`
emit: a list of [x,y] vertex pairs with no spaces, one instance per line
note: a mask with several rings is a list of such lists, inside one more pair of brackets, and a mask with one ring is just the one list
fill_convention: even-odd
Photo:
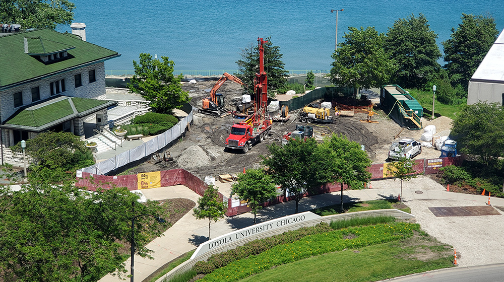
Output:
[[[373,210],[373,209],[386,209],[386,208],[395,208],[393,205],[397,201],[389,201],[389,200],[374,200],[374,201],[365,201],[365,202],[349,202],[343,203],[343,208],[345,209],[345,213],[352,212],[361,212],[362,210]],[[337,215],[341,214],[341,204],[330,205],[326,207],[321,207],[317,209],[311,210],[312,213],[317,214],[321,217]],[[406,213],[411,213],[411,209],[407,206],[400,206],[398,208]]]

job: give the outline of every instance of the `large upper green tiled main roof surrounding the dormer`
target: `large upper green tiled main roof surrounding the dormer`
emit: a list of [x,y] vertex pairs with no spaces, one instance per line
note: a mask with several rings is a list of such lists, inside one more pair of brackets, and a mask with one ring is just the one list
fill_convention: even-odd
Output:
[[[38,38],[39,36],[44,44],[51,41],[75,48],[68,50],[68,59],[44,64],[37,56],[25,53],[25,37]],[[0,36],[0,46],[2,49],[0,54],[0,88],[120,55],[115,51],[82,41],[73,34],[59,33],[51,29],[23,31]],[[49,49],[54,50],[55,48],[57,49],[56,44],[51,45]]]

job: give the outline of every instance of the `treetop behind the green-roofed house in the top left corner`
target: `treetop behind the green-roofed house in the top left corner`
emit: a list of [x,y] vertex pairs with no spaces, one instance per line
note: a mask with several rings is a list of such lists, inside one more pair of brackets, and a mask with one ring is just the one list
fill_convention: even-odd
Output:
[[67,0],[2,0],[0,23],[20,24],[27,28],[50,28],[70,25],[74,19],[74,3]]

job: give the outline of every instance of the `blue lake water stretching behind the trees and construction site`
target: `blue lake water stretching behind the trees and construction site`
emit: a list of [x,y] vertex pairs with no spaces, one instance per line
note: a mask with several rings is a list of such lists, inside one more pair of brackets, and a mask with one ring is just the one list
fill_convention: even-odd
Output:
[[[168,56],[177,70],[236,69],[241,49],[271,36],[280,46],[286,69],[329,69],[334,52],[336,13],[338,42],[348,26],[374,26],[379,32],[399,18],[423,13],[438,34],[450,38],[462,13],[490,14],[504,29],[502,0],[74,0],[74,21],[86,24],[88,42],[112,49],[120,57],[105,69],[133,69],[141,52]],[[59,31],[70,31],[61,26]],[[440,50],[443,51],[442,47]]]

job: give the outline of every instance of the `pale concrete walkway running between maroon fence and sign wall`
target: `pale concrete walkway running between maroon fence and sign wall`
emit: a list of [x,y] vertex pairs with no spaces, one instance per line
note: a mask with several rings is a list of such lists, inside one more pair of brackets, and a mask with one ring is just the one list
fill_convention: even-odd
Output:
[[[373,189],[365,190],[349,190],[343,192],[343,202],[350,201],[367,201],[375,199],[384,199],[389,197],[397,197],[399,188],[385,188],[391,186],[399,187],[398,182],[391,182],[392,180],[372,181]],[[421,183],[428,182],[429,187],[422,187]],[[427,177],[419,177],[403,185],[403,199],[405,201],[420,201],[427,199],[445,200],[446,202],[452,200],[458,201],[471,201],[470,205],[484,205],[488,197],[480,195],[460,194],[444,191],[446,188],[433,182]],[[185,186],[172,186],[162,187],[156,189],[142,190],[144,195],[152,200],[166,199],[166,198],[188,198],[197,201],[198,195]],[[340,192],[329,194],[316,195],[304,198],[299,203],[299,212],[304,212],[313,208],[328,206],[340,203]],[[493,205],[504,206],[503,198],[492,198]],[[264,222],[275,218],[291,215],[294,213],[295,202],[284,202],[269,206],[261,210],[258,214],[258,222]],[[253,224],[254,215],[242,214],[239,216],[225,218],[216,223],[211,224],[211,237],[215,238],[231,231],[250,226]],[[135,281],[142,281],[149,274],[163,266],[165,263],[175,259],[179,255],[193,250],[198,244],[205,242],[208,238],[208,221],[197,220],[193,217],[193,212],[188,212],[170,229],[164,232],[164,236],[156,238],[147,247],[154,250],[151,255],[153,260],[135,256]],[[446,242],[451,244],[450,242]],[[130,269],[130,259],[126,261],[126,268]],[[128,275],[129,272],[126,274]],[[101,282],[116,282],[119,281],[117,277],[106,275]]]

